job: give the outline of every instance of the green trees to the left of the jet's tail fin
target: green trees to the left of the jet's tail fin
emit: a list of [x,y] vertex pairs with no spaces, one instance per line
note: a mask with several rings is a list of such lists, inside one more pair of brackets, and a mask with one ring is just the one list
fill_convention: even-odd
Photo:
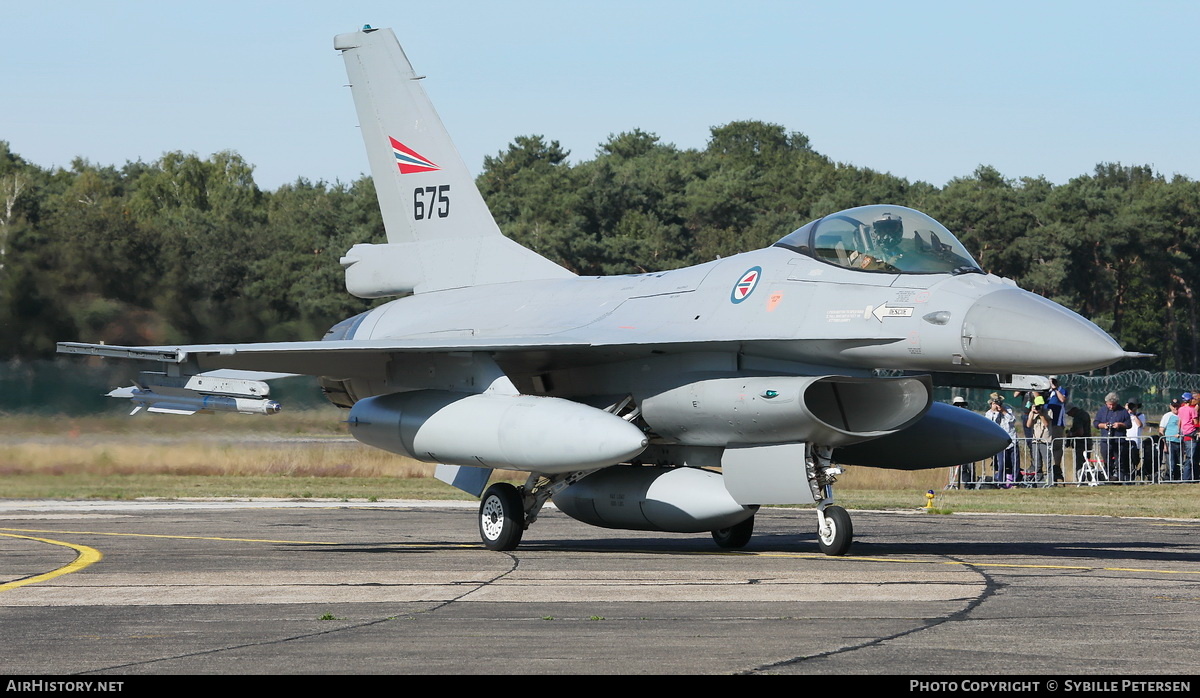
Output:
[[338,257],[383,240],[368,179],[263,192],[233,152],[48,172],[0,143],[5,204],[6,356],[44,356],[62,339],[318,338],[367,307],[346,293]]

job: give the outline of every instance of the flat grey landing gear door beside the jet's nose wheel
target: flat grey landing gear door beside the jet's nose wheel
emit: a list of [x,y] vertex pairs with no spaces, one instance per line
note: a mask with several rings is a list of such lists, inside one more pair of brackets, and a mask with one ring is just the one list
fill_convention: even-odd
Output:
[[725,488],[740,505],[811,504],[804,444],[728,447],[721,456]]

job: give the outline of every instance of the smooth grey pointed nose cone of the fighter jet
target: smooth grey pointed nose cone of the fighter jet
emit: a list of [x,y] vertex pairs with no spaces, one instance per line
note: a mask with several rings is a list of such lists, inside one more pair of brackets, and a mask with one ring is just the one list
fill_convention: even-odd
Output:
[[1126,356],[1112,337],[1086,318],[1021,289],[977,300],[962,321],[967,361],[997,373],[1075,373]]

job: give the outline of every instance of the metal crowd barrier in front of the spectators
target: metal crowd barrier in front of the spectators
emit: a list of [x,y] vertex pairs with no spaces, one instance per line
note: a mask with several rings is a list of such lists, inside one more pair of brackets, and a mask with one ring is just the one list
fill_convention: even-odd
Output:
[[[991,458],[952,468],[947,488],[1196,482],[1200,463],[1192,468],[1186,451],[1186,444],[1170,444],[1160,437],[1063,438],[1049,443],[1016,439]],[[1200,461],[1200,452],[1195,456]]]

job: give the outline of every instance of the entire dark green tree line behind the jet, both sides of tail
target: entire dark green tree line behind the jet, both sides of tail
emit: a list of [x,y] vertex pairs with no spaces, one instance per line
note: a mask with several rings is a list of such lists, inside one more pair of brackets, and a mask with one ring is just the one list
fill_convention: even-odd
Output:
[[[520,137],[485,158],[478,183],[506,235],[577,273],[709,261],[841,209],[899,204],[941,221],[986,271],[1157,355],[1112,371],[1200,372],[1200,182],[1188,177],[1102,163],[1054,185],[980,166],[936,187],[834,162],[758,121],[714,127],[702,150],[635,130],[569,157]],[[372,305],[346,293],[341,254],[384,241],[370,177],[263,191],[233,152],[44,169],[0,142],[0,204],[10,359],[64,339],[318,338]]]

